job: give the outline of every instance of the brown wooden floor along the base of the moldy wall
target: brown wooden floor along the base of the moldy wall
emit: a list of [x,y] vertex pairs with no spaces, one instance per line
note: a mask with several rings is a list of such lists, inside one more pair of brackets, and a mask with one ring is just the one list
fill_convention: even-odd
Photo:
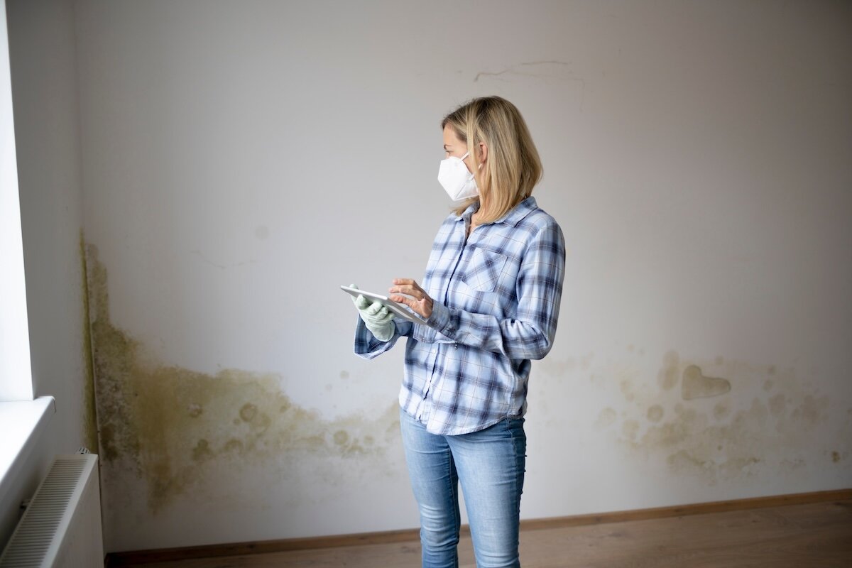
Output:
[[[459,562],[475,568],[470,539]],[[418,542],[137,564],[148,568],[416,568]],[[521,532],[524,568],[852,567],[852,500]]]

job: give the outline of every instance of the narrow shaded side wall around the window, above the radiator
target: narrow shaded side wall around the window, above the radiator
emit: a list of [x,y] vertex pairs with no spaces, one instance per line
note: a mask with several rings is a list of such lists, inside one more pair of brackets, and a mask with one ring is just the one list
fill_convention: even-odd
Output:
[[[32,391],[56,413],[3,495],[0,542],[56,454],[97,451],[83,310],[83,199],[72,3],[6,3]],[[3,278],[10,275],[3,273]],[[4,314],[5,315],[5,314]],[[6,488],[4,488],[6,489]]]

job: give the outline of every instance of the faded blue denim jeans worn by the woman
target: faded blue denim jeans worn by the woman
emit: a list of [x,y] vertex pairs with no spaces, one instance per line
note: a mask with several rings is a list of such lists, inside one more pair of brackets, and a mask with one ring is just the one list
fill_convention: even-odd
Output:
[[519,567],[518,521],[527,435],[524,419],[439,436],[400,409],[408,474],[420,509],[423,568],[458,567],[458,482],[478,568]]

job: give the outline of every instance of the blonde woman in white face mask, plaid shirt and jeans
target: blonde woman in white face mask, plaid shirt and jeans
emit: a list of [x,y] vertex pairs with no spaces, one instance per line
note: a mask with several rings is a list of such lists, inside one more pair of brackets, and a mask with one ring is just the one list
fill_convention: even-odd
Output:
[[542,168],[514,105],[470,100],[441,128],[438,180],[458,207],[438,230],[423,286],[397,278],[389,289],[425,323],[361,295],[354,351],[372,359],[408,338],[400,427],[423,566],[458,566],[459,482],[476,565],[520,566],[527,379],[530,360],[553,345],[565,244],[530,197]]

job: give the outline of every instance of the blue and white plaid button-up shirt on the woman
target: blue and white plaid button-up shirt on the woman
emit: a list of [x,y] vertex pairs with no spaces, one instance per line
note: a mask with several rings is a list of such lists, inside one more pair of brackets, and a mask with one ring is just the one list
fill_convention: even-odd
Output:
[[425,324],[394,318],[378,341],[358,318],[354,353],[373,359],[406,336],[400,406],[431,433],[456,435],[527,412],[531,359],[550,351],[565,241],[559,225],[527,198],[465,239],[471,205],[438,230],[423,282],[435,301]]

